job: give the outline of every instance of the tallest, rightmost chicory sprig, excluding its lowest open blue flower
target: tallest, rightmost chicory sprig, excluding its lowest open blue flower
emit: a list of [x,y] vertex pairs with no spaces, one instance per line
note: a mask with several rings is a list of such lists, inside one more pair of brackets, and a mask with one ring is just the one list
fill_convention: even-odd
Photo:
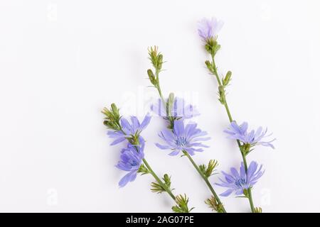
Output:
[[[228,118],[230,121],[230,128],[225,130],[225,133],[228,133],[229,138],[233,138],[237,141],[238,147],[240,149],[240,153],[242,155],[243,167],[245,174],[248,174],[249,169],[247,167],[246,156],[252,151],[252,148],[255,145],[264,145],[271,148],[274,148],[272,142],[270,141],[262,141],[269,135],[266,135],[267,130],[263,131],[262,128],[258,128],[257,131],[247,131],[247,123],[242,123],[240,126],[233,121],[233,117],[231,116],[230,109],[228,106],[228,102],[226,99],[226,87],[230,84],[230,80],[232,77],[232,72],[228,71],[222,78],[218,74],[218,67],[215,65],[215,55],[220,50],[220,45],[218,44],[218,32],[222,28],[223,23],[218,21],[215,18],[211,20],[207,18],[203,18],[202,21],[198,23],[198,35],[204,42],[204,48],[210,54],[211,60],[206,60],[205,64],[208,68],[209,72],[215,76],[218,82],[218,100],[223,106],[225,106],[225,111],[228,114]],[[252,163],[252,162],[251,162]],[[251,164],[250,164],[251,165]],[[229,191],[230,192],[230,191]],[[246,197],[250,201],[250,208],[252,213],[259,213],[262,211],[261,208],[255,208],[252,195],[251,195],[251,187],[245,189]]]

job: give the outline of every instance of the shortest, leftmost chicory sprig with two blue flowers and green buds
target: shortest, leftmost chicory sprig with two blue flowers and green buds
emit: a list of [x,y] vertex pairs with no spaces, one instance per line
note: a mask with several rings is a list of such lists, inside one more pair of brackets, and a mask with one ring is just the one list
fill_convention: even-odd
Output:
[[[168,193],[174,199],[176,206],[181,208],[179,212],[190,212],[192,209],[188,209],[188,199],[185,201],[179,200],[177,199],[179,197],[172,193],[171,177],[165,174],[161,180],[144,157],[145,141],[140,134],[149,125],[151,116],[147,114],[142,123],[140,123],[137,117],[132,116],[130,123],[126,118],[119,115],[119,109],[115,104],[111,105],[111,109],[104,108],[102,114],[105,114],[105,126],[112,130],[107,132],[107,135],[114,140],[111,145],[122,143],[124,140],[128,142],[127,147],[121,150],[120,160],[116,165],[119,170],[127,172],[120,179],[119,187],[124,187],[128,182],[133,182],[137,177],[137,173],[141,173],[142,175],[151,174],[156,179],[156,182],[151,183],[152,192]],[[176,206],[172,207],[172,210],[175,212]]]

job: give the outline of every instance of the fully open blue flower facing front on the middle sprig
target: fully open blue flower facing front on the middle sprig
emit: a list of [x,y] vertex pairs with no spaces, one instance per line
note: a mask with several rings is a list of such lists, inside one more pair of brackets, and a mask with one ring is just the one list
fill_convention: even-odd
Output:
[[159,133],[160,138],[166,142],[166,145],[156,143],[156,146],[162,150],[172,150],[169,155],[178,155],[181,151],[186,151],[190,155],[194,155],[195,151],[201,152],[203,151],[202,148],[208,148],[208,146],[199,143],[199,141],[209,140],[210,138],[203,137],[208,133],[196,127],[196,123],[188,123],[185,127],[183,121],[174,121],[173,131],[166,129]]

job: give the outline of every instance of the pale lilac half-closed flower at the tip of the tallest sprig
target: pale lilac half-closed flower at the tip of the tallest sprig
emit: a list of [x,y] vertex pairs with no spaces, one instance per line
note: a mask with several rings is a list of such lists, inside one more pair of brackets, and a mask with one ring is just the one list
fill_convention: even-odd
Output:
[[207,41],[210,38],[215,38],[222,27],[223,21],[218,21],[214,17],[211,20],[203,18],[198,22],[198,34],[204,41]]

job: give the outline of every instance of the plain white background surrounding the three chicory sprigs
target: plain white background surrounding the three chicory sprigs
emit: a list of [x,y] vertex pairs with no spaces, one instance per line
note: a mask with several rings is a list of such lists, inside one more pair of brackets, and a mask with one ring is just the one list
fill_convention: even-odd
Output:
[[[219,170],[239,167],[235,143],[223,135],[228,118],[196,22],[225,22],[216,61],[233,71],[228,101],[238,121],[268,126],[276,150],[257,148],[249,160],[264,165],[253,190],[266,212],[320,211],[319,1],[1,1],[0,211],[171,211],[166,194],[150,192],[150,175],[119,189],[114,165],[123,145],[110,147],[103,106],[124,115],[146,111],[147,47],[159,45],[165,94],[193,99],[208,131]],[[154,143],[164,121],[144,131],[146,158],[172,176],[194,211],[210,212],[210,196],[186,157],[170,157]],[[211,182],[216,182],[213,176]],[[222,188],[216,187],[220,193]],[[249,211],[246,199],[223,199],[228,211]]]

